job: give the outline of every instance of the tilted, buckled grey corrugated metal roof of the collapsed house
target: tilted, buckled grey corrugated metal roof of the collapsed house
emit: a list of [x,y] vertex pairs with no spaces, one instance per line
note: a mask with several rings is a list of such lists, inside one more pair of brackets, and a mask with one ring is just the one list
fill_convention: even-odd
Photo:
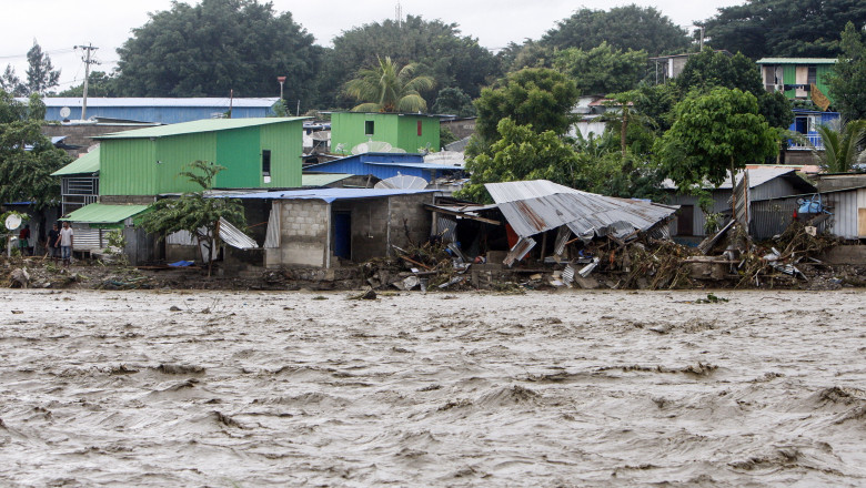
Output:
[[522,237],[562,225],[580,236],[598,233],[616,222],[645,231],[677,210],[677,206],[582,192],[546,180],[487,183],[484,187]]

